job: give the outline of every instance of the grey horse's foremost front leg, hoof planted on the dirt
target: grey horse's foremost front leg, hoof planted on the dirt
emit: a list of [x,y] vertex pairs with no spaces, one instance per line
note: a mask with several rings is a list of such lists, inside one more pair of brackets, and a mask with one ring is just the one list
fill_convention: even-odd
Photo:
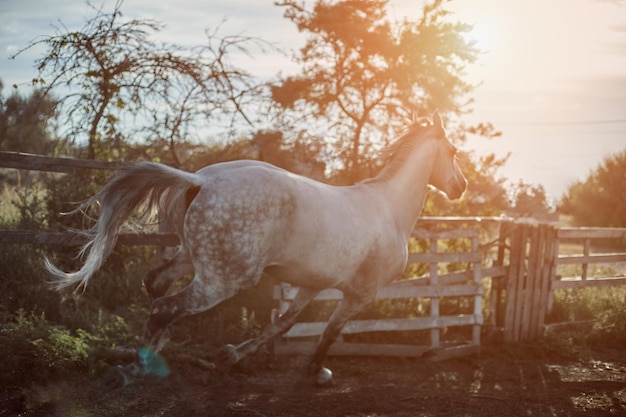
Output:
[[326,329],[319,339],[315,353],[309,362],[309,374],[315,377],[315,383],[318,386],[329,386],[333,384],[333,373],[330,369],[323,366],[324,359],[328,354],[328,349],[333,344],[341,329],[345,324],[362,311],[374,299],[374,295],[362,294],[359,296],[347,295],[335,308],[332,316],[328,320]]

